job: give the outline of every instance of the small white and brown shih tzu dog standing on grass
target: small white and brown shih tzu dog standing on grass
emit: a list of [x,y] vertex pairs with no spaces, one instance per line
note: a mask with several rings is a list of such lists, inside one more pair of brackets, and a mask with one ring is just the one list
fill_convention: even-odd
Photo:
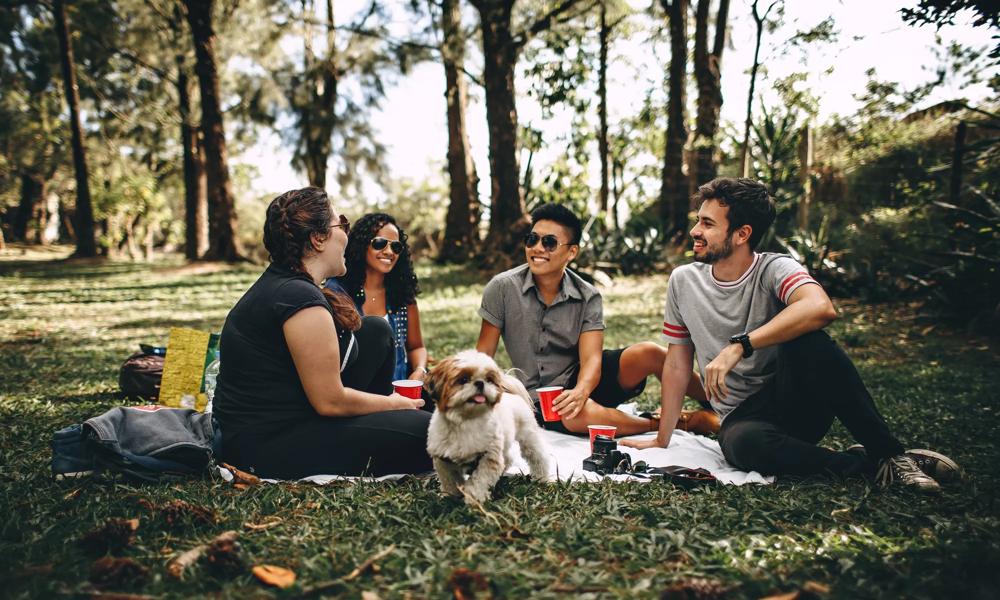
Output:
[[[514,441],[535,479],[549,474],[549,457],[528,391],[492,358],[466,350],[438,363],[424,382],[437,410],[427,452],[441,491],[482,504],[512,462]],[[468,474],[468,479],[466,479]]]

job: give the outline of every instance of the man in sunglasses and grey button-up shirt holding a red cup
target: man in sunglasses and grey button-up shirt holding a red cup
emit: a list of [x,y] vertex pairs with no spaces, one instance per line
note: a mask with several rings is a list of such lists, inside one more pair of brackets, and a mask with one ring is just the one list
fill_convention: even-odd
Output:
[[549,429],[581,434],[600,424],[616,426],[620,435],[656,431],[657,419],[616,407],[639,395],[647,377],[660,375],[666,350],[653,342],[604,350],[601,294],[567,268],[580,252],[580,219],[564,206],[546,204],[531,221],[526,264],[486,285],[476,349],[493,356],[503,338],[536,402],[538,388],[564,388],[553,403],[561,420],[542,422]]

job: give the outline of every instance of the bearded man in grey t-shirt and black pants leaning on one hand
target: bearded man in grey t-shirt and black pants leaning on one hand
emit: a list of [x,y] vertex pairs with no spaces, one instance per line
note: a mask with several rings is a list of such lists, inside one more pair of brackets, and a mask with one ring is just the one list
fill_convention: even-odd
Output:
[[[691,230],[695,263],[667,285],[662,413],[655,439],[666,447],[694,355],[705,390],[723,419],[726,460],[767,475],[875,476],[921,491],[958,474],[947,457],[904,451],[875,408],[861,377],[822,331],[837,313],[823,288],[790,256],[754,249],[774,221],[763,184],[715,179],[698,188]],[[845,452],[817,446],[834,418],[861,442]]]

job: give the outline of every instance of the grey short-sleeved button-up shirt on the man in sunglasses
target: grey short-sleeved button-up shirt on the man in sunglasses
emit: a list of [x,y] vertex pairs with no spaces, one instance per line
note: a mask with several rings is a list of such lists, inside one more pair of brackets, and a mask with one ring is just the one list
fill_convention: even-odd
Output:
[[566,270],[559,293],[546,306],[524,264],[486,284],[479,315],[500,330],[504,347],[524,386],[535,390],[576,381],[580,334],[604,329],[600,292]]

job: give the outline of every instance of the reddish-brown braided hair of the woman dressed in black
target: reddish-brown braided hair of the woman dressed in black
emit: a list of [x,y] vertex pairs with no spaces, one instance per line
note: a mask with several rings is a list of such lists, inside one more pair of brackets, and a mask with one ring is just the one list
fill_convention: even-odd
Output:
[[[330,198],[320,188],[291,190],[278,196],[267,207],[264,220],[264,247],[271,262],[297,273],[304,273],[302,259],[316,252],[313,234],[322,239],[330,235],[333,209]],[[349,296],[322,289],[340,329],[357,331],[361,315]]]

